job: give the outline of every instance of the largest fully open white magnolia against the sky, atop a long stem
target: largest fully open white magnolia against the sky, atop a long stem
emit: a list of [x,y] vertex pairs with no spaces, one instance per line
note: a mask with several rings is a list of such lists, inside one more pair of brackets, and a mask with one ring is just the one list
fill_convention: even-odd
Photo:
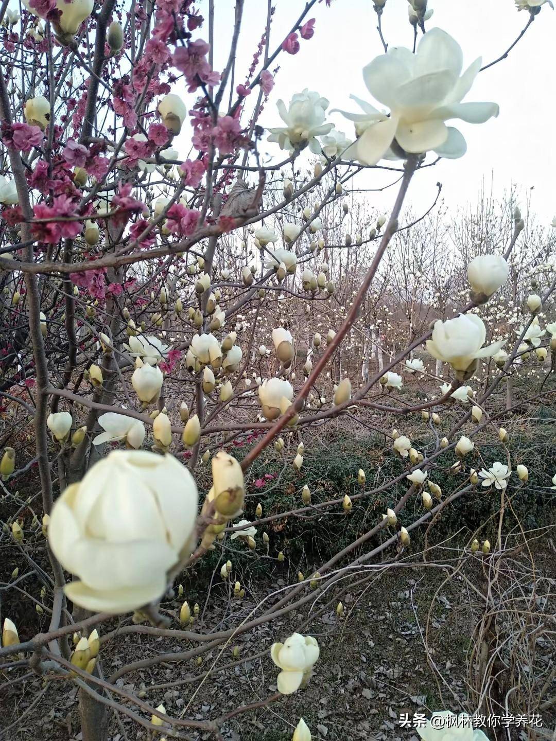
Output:
[[462,50],[440,28],[422,37],[416,54],[406,47],[391,47],[388,53],[377,56],[364,67],[363,79],[368,91],[390,113],[381,113],[351,96],[364,113],[341,111],[360,133],[348,156],[363,165],[376,165],[383,157],[405,159],[408,154],[429,150],[450,159],[463,156],[466,140],[459,130],[444,122],[461,119],[481,124],[498,115],[496,103],[461,102],[480,66],[479,57],[462,75]]

